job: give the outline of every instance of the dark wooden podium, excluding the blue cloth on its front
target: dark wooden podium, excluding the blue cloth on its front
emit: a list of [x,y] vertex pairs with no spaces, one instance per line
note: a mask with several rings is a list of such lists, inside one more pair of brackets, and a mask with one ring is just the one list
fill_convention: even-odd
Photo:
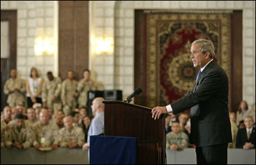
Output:
[[104,101],[105,136],[137,138],[138,164],[164,164],[165,119],[151,118],[151,109],[122,101]]

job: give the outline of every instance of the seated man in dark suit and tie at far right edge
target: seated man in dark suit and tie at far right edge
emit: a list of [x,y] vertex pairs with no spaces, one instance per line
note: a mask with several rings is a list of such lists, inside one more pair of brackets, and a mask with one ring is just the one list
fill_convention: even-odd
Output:
[[246,116],[244,118],[246,128],[238,130],[236,148],[244,148],[246,150],[255,148],[255,128],[253,127],[253,123],[252,116]]

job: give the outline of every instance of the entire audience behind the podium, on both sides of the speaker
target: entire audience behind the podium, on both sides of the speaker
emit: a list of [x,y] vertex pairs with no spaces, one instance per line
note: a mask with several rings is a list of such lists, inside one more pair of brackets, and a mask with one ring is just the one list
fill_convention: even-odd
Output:
[[[17,70],[11,70],[10,79],[4,84],[8,106],[1,114],[1,147],[88,150],[88,137],[104,132],[104,99],[94,100],[93,116],[89,116],[87,92],[103,90],[103,86],[90,79],[90,70],[83,72],[80,81],[74,80],[71,70],[67,77],[62,83],[60,78],[47,72],[47,80],[44,81],[33,67],[30,77],[24,82],[17,78]],[[230,112],[229,117],[233,142],[228,144],[228,148],[255,148],[255,104],[249,109],[247,102],[242,100],[237,112]],[[182,113],[176,118],[166,114],[165,118],[166,148],[183,150],[195,147],[190,140],[189,114]]]

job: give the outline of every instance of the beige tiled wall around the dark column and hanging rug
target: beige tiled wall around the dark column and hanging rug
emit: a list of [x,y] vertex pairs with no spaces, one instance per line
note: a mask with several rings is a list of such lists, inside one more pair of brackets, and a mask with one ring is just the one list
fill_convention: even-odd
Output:
[[[243,99],[255,102],[255,1],[90,1],[90,41],[99,36],[114,38],[114,52],[97,54],[90,42],[92,76],[107,90],[123,90],[127,97],[133,86],[134,10],[243,10]],[[56,1],[1,1],[1,10],[18,10],[17,69],[26,78],[30,68],[58,72],[58,56],[35,56],[37,36],[57,38]]]

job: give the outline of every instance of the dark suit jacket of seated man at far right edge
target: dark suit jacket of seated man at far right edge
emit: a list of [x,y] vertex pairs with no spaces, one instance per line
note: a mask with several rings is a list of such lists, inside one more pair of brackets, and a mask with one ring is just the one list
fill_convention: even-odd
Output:
[[252,129],[250,139],[247,139],[247,130],[246,128],[244,129],[239,129],[237,132],[237,141],[235,144],[236,148],[243,148],[244,143],[246,142],[251,142],[254,145],[255,148],[255,128]]

